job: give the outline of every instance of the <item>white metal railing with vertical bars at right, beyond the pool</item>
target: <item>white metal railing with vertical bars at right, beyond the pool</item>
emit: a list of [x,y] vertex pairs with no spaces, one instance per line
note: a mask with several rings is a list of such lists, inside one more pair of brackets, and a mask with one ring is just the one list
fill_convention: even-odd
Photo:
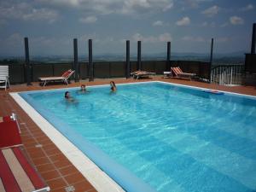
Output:
[[244,65],[221,65],[212,67],[211,83],[222,85],[241,84],[244,76]]

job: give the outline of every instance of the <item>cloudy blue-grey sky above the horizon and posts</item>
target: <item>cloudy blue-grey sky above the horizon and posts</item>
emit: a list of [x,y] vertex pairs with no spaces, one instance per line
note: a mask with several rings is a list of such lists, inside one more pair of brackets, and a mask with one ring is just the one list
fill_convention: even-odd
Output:
[[0,55],[24,55],[29,38],[31,55],[131,53],[142,41],[143,54],[166,52],[249,52],[255,0],[0,0]]

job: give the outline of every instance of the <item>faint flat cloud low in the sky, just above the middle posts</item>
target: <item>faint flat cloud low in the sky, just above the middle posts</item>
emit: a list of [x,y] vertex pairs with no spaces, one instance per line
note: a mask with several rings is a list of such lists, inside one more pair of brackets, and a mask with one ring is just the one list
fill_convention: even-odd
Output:
[[143,43],[160,43],[172,41],[172,36],[169,32],[160,34],[159,36],[143,36],[140,33],[136,33],[131,37],[132,41],[142,41]]

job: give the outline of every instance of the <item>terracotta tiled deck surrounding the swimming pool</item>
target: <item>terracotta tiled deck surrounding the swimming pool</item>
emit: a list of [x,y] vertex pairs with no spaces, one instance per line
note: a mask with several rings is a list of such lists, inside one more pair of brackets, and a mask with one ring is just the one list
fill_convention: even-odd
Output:
[[[133,79],[112,79],[116,83],[127,82],[141,82],[148,80],[133,80]],[[152,80],[152,79],[149,79]],[[192,86],[199,86],[204,88],[226,90],[241,94],[256,96],[256,87],[253,86],[237,86],[225,87],[217,84],[205,84],[195,81],[186,81],[178,79],[162,79],[155,77],[153,80],[161,80],[172,82],[176,84],[187,84]],[[109,79],[96,79],[94,82],[79,82],[69,84],[68,87],[79,86],[80,84],[95,85],[95,84],[108,84]],[[49,184],[53,192],[67,192],[70,191],[96,191],[93,186],[82,176],[82,174],[70,163],[64,154],[52,143],[49,138],[40,130],[32,119],[19,107],[17,103],[9,96],[11,91],[24,91],[24,90],[48,90],[67,87],[67,85],[48,85],[44,88],[39,86],[38,83],[32,83],[32,86],[26,84],[12,85],[8,91],[0,90],[0,116],[6,116],[10,113],[16,113],[20,122],[21,137],[26,153],[37,167],[38,172],[41,173],[46,183]],[[72,190],[74,189],[74,190]]]

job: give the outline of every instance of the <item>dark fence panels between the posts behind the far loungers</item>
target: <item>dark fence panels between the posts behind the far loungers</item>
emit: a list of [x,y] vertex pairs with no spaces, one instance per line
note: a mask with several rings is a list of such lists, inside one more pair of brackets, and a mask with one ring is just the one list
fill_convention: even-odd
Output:
[[[73,63],[32,63],[32,81],[38,81],[40,77],[60,76],[64,71],[73,68]],[[137,70],[137,61],[131,61],[131,72]],[[171,65],[170,65],[171,64]],[[26,82],[26,65],[23,63],[1,64],[9,65],[9,79],[11,84]],[[201,61],[142,61],[142,70],[163,74],[170,71],[170,67],[181,67],[183,72],[196,73],[201,79],[209,79],[210,65]],[[94,78],[110,79],[125,78],[125,61],[95,61],[93,63]],[[79,62],[79,79],[89,79],[88,62]]]

